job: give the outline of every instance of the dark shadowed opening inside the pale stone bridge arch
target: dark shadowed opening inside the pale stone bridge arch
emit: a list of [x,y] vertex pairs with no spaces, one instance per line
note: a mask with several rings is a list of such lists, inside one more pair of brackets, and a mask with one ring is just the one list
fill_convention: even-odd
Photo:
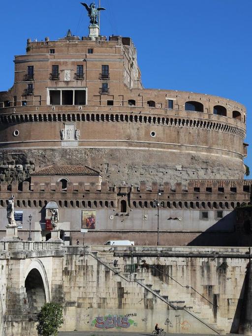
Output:
[[39,313],[46,303],[45,287],[39,271],[32,269],[25,280],[28,314]]

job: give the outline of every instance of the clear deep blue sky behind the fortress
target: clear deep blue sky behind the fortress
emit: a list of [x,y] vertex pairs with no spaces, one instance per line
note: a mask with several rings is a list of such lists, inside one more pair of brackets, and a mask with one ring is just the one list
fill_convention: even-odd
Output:
[[[252,0],[101,0],[101,5],[107,9],[101,34],[133,39],[145,88],[216,94],[243,103],[246,142],[252,144]],[[68,29],[88,34],[86,10],[78,0],[1,1],[0,9],[0,91],[12,86],[12,60],[25,53],[27,38],[58,39]],[[250,147],[245,162],[252,171]]]

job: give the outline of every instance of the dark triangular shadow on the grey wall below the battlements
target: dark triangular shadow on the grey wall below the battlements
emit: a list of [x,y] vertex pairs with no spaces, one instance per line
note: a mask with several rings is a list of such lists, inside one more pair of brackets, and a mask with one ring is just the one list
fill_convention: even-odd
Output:
[[[236,211],[233,210],[214,225],[202,232],[188,245],[191,246],[249,246],[252,236],[247,240],[241,239],[242,235],[235,232]],[[248,244],[250,242],[250,244]]]

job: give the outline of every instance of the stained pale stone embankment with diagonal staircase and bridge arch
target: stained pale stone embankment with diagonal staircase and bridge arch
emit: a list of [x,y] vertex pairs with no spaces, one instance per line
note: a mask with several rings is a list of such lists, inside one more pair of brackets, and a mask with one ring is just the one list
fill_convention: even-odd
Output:
[[0,336],[37,335],[45,302],[62,330],[251,335],[247,247],[0,243]]

